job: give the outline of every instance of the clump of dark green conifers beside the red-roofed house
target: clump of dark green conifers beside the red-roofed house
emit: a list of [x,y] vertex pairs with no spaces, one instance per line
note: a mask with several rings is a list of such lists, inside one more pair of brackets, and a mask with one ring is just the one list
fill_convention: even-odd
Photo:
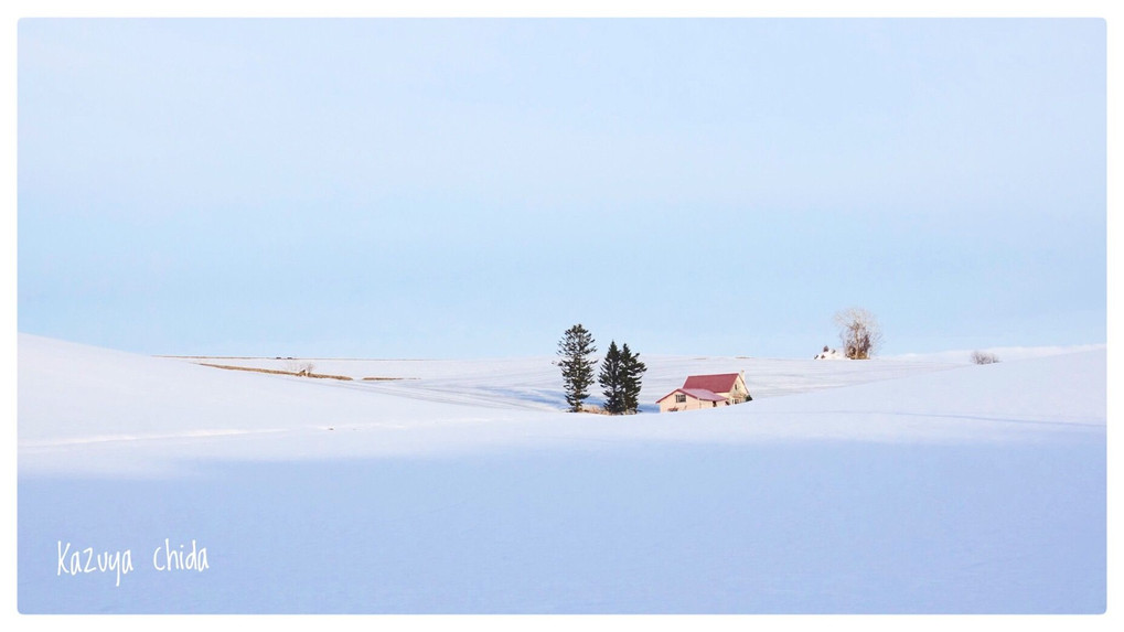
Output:
[[[559,365],[562,368],[562,383],[569,410],[580,413],[584,409],[584,400],[589,397],[588,389],[593,383],[593,368],[597,361],[592,355],[597,352],[593,336],[581,324],[565,331],[559,341]],[[625,343],[609,343],[605,353],[597,382],[605,395],[604,410],[610,415],[634,414],[640,410],[641,381],[647,367],[640,361],[640,354],[628,349]]]

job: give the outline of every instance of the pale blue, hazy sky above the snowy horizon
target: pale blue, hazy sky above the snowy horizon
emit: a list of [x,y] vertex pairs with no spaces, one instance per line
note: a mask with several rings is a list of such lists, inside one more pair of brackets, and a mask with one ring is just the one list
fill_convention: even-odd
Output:
[[144,353],[1105,342],[1102,20],[21,20],[19,329]]

